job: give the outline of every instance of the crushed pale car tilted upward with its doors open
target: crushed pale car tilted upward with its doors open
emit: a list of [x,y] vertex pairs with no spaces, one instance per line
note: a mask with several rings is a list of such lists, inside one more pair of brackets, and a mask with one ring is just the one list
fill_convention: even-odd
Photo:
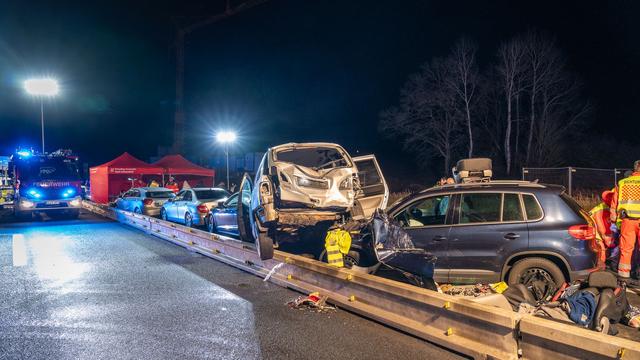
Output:
[[245,175],[240,184],[238,230],[267,260],[274,243],[296,241],[301,229],[319,223],[367,219],[388,196],[373,155],[352,158],[332,143],[278,145],[267,150],[254,180]]

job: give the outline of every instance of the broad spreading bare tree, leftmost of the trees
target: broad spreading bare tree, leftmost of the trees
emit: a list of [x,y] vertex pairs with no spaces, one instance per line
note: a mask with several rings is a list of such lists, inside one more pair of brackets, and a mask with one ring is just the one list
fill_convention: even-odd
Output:
[[435,59],[412,75],[401,91],[400,105],[381,114],[380,131],[402,140],[405,149],[418,157],[443,159],[448,173],[460,136],[462,118],[456,108],[457,97],[446,84],[451,71],[447,62]]

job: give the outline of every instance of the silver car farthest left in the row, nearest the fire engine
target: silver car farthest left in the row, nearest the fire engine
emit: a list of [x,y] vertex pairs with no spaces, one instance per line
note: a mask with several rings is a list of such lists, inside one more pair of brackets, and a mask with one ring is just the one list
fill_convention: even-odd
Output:
[[132,188],[116,199],[116,207],[121,210],[149,216],[160,215],[162,205],[173,199],[173,191],[162,187]]

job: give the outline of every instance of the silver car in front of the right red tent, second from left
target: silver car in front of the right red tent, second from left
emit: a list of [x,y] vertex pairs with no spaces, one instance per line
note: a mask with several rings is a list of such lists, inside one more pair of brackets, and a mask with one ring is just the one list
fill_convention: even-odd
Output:
[[189,227],[204,226],[209,210],[229,196],[231,194],[221,188],[184,189],[162,206],[160,217]]

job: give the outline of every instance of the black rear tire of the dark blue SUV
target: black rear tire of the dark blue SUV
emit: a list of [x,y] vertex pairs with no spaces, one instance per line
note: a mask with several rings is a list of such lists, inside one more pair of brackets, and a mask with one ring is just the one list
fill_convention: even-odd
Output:
[[[509,271],[507,282],[508,284],[524,284],[525,286],[530,286],[531,284],[529,282],[535,280],[533,278],[542,280],[547,285],[553,285],[551,286],[552,289],[549,289],[546,295],[548,295],[549,292],[553,295],[556,289],[565,282],[564,274],[558,265],[554,264],[551,260],[539,257],[526,258],[516,262],[511,268],[511,271]],[[550,284],[549,280],[552,280],[554,284]]]

